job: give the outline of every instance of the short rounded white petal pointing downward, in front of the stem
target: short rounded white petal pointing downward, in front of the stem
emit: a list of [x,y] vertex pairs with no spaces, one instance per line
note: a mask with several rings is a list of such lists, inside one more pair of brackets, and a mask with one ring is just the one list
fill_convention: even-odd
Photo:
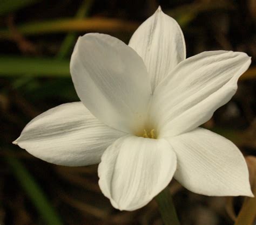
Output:
[[99,164],[99,186],[120,210],[145,206],[171,181],[176,156],[164,139],[126,136],[104,152]]

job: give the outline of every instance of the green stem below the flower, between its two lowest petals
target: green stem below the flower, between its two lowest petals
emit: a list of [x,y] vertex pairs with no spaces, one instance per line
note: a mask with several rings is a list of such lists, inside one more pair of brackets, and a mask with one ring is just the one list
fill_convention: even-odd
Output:
[[155,199],[157,201],[158,209],[164,224],[180,225],[169,187],[166,187],[163,191],[161,191]]

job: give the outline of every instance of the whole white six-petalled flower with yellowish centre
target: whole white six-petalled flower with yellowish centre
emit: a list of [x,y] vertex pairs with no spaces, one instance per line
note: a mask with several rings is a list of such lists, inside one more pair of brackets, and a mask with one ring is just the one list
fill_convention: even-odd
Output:
[[173,175],[199,194],[253,196],[238,148],[198,128],[231,99],[251,58],[185,52],[179,25],[160,8],[128,46],[106,34],[80,37],[70,69],[82,102],[37,116],[14,143],[58,165],[100,163],[100,189],[120,210],[145,206]]

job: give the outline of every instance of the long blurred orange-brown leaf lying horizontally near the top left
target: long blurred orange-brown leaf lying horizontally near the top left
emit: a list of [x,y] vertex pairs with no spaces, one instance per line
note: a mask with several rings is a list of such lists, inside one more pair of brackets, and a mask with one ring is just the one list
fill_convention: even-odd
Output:
[[[137,29],[138,23],[111,18],[87,19],[57,19],[43,22],[30,22],[17,26],[17,31],[27,35],[43,33],[59,33],[70,31],[97,31],[97,32],[131,32]],[[1,39],[11,39],[12,34],[8,29],[0,30]]]

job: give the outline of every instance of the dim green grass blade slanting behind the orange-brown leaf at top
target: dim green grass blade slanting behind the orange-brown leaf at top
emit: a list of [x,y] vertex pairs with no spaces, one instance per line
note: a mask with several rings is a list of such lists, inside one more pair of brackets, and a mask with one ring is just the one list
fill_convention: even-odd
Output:
[[[89,10],[91,9],[93,0],[84,0],[82,5],[80,6],[79,10],[76,14],[76,19],[82,19],[83,17],[87,17]],[[75,43],[77,33],[70,32],[66,35],[65,39],[60,46],[59,52],[56,55],[56,59],[63,59],[68,55],[70,48],[72,47],[73,43]]]

